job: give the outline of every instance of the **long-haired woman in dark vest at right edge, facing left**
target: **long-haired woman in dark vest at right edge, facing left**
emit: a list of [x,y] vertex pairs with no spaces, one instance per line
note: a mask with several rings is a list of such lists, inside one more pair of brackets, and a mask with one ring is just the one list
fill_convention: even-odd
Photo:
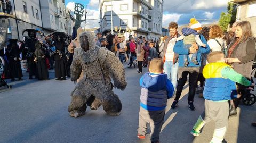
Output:
[[[252,36],[251,24],[248,21],[239,22],[236,26],[235,39],[228,45],[226,61],[232,65],[237,73],[242,74],[250,80],[255,55],[255,40]],[[238,95],[241,96],[250,92],[247,87],[238,83],[237,91]],[[234,99],[229,116],[237,114],[236,108],[238,107],[241,96],[237,96],[237,99]]]

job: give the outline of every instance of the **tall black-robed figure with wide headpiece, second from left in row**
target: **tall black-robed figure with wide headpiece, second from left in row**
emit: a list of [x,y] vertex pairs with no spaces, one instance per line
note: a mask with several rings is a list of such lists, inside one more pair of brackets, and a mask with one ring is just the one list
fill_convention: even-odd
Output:
[[29,70],[29,79],[32,79],[33,76],[37,78],[36,74],[36,63],[34,61],[35,59],[35,43],[38,41],[36,38],[35,32],[29,32],[28,33],[29,39],[25,43],[25,47],[28,48],[28,52],[26,54],[27,62],[28,62],[28,70]]

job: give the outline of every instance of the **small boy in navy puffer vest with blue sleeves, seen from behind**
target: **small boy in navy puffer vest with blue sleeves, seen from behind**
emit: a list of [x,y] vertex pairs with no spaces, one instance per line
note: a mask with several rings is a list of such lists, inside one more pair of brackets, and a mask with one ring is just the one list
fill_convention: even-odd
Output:
[[140,78],[140,113],[137,137],[145,139],[147,123],[150,124],[151,142],[159,142],[159,134],[164,123],[167,99],[173,95],[173,85],[163,73],[164,63],[161,58],[154,58],[149,65],[149,72]]

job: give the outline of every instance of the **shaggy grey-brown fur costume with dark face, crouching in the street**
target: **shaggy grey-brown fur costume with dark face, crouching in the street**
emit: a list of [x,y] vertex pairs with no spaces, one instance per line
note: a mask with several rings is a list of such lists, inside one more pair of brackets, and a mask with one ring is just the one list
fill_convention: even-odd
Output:
[[72,99],[68,107],[70,116],[84,115],[87,105],[92,110],[97,110],[102,105],[103,110],[108,114],[119,115],[122,104],[112,91],[113,85],[110,77],[114,81],[115,88],[124,90],[127,83],[123,64],[113,52],[95,45],[92,32],[81,33],[80,38],[83,37],[87,38],[89,49],[85,51],[82,48],[84,43],[80,40],[81,47],[75,48],[74,51],[71,81],[76,82],[82,70],[83,78],[71,92]]

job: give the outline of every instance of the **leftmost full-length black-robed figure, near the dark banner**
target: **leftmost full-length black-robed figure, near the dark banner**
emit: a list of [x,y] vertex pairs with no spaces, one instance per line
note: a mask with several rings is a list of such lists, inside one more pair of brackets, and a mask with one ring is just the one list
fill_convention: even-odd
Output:
[[9,70],[11,73],[11,81],[14,81],[15,78],[22,80],[23,74],[21,70],[21,58],[20,58],[20,48],[17,45],[17,39],[10,39],[10,44],[7,45],[5,55],[9,61]]

